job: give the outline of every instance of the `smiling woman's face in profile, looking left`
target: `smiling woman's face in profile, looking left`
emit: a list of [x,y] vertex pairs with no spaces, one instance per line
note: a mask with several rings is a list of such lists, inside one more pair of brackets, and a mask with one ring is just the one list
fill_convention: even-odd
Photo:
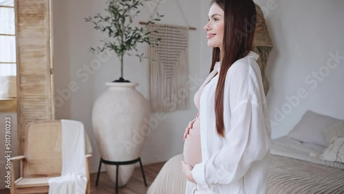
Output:
[[204,30],[207,32],[208,46],[221,49],[224,40],[224,10],[213,3],[208,18],[208,23],[204,26]]

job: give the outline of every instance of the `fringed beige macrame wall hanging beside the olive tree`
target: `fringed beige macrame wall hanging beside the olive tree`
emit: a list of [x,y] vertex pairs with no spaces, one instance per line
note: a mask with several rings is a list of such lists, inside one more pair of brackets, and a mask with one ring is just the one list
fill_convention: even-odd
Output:
[[[186,27],[178,25],[149,25],[152,38],[160,38],[158,46],[148,47],[149,102],[151,111],[170,112],[187,109],[189,87],[186,85],[189,74],[188,34],[189,28],[180,3],[176,0],[186,22]],[[140,22],[144,24],[144,22]]]

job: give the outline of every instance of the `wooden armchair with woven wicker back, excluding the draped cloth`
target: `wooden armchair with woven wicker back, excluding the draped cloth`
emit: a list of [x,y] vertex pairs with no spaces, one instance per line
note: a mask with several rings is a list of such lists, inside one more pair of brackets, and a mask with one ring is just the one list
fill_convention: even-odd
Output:
[[[11,177],[14,180],[14,162],[20,162],[20,177],[11,182],[10,193],[48,193],[48,180],[61,176],[62,141],[61,120],[45,120],[28,124],[25,130],[24,154],[11,158]],[[89,184],[89,158],[85,154],[87,191]]]

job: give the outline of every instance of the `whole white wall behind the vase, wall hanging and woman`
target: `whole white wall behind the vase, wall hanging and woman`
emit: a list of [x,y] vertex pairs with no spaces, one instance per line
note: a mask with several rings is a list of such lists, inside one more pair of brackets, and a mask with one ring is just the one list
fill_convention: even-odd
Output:
[[[270,91],[267,96],[270,117],[275,124],[277,123],[272,126],[272,138],[288,133],[307,109],[344,119],[342,111],[344,105],[341,98],[344,93],[341,85],[344,60],[340,61],[338,67],[331,69],[329,75],[322,81],[318,81],[319,85],[314,89],[311,88],[313,83],[305,82],[305,78],[312,75],[312,72],[324,68],[330,58],[330,52],[334,54],[338,52],[340,56],[344,56],[344,39],[341,37],[344,27],[340,25],[344,18],[344,13],[341,12],[344,1],[275,0],[275,3],[271,2],[256,0],[256,3],[264,8],[272,42],[275,45],[267,69],[270,80]],[[207,22],[209,1],[189,0],[180,3],[188,22],[197,28],[196,31],[189,32],[189,74],[193,77],[205,78],[211,62],[211,49],[206,45],[206,33],[203,30]],[[112,56],[102,63],[101,68],[94,74],[89,75],[85,82],[76,75],[76,72],[98,58],[97,55],[90,54],[88,48],[97,45],[98,41],[105,37],[93,30],[91,23],[86,23],[83,18],[94,12],[100,12],[104,7],[105,1],[54,1],[56,90],[66,91],[72,81],[78,85],[78,90],[72,91],[70,98],[63,100],[63,106],[56,107],[56,118],[71,118],[85,124],[94,147],[92,172],[96,171],[100,157],[92,131],[92,106],[94,100],[107,89],[104,83],[120,76],[120,65],[117,58]],[[185,25],[175,1],[162,1],[159,12],[165,15],[163,23]],[[146,6],[140,21],[148,19],[149,13],[149,8]],[[134,21],[134,23],[138,22]],[[146,46],[140,45],[139,50],[145,51]],[[137,89],[145,97],[147,97],[146,73],[147,61],[140,64],[137,58],[125,58],[125,78],[140,83]],[[198,87],[200,84],[195,85]],[[290,112],[286,112],[288,109],[283,110],[286,113],[285,117],[279,120],[277,109],[282,110],[288,106],[286,96],[297,95],[298,89],[302,88],[305,89],[305,94],[308,94],[306,98],[300,99],[299,104],[292,107]],[[173,155],[182,153],[182,134],[189,120],[192,120],[197,112],[193,104],[194,94],[195,90],[190,91],[188,110],[166,114],[166,120],[159,122],[157,129],[147,137],[142,150],[144,164],[168,160]],[[58,96],[63,95],[56,92],[56,97]]]

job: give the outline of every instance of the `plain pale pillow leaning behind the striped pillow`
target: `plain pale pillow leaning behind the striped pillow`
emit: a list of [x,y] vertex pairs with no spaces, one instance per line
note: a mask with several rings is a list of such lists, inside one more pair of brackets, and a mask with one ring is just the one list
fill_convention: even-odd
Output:
[[288,133],[288,138],[327,147],[323,131],[341,120],[306,111],[297,125]]

